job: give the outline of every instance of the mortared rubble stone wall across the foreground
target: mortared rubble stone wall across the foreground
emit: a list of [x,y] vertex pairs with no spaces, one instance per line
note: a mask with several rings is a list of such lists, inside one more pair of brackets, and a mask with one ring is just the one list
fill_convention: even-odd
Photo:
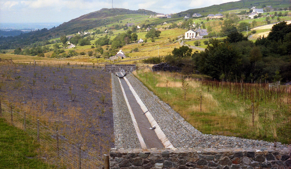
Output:
[[290,169],[290,149],[132,149],[110,151],[111,169]]

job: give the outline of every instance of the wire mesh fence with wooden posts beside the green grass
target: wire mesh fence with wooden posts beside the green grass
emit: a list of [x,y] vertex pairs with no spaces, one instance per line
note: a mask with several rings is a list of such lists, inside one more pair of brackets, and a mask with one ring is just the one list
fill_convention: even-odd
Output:
[[13,126],[20,128],[36,139],[45,151],[55,158],[53,160],[59,166],[68,169],[95,169],[102,168],[103,158],[94,152],[85,150],[69,139],[58,134],[40,122],[39,119],[15,109],[12,105],[3,103],[0,100],[0,117]]

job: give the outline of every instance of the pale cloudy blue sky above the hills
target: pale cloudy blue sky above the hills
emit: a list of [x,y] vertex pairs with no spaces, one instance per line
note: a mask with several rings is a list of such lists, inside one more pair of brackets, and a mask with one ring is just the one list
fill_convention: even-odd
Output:
[[[239,0],[113,0],[113,8],[174,13]],[[111,0],[0,0],[0,23],[68,22],[111,8]]]

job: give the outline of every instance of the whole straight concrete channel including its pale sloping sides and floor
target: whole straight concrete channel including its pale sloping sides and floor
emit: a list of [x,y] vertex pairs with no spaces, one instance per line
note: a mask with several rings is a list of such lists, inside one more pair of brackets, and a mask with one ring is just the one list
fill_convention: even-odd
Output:
[[[136,94],[125,73],[117,72],[123,96],[142,148],[173,148],[164,132]],[[151,128],[151,129],[150,129]]]

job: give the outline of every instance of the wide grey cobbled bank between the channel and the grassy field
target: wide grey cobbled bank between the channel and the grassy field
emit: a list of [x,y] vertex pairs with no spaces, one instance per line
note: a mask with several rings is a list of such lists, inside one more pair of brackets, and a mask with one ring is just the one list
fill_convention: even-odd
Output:
[[[148,90],[134,75],[128,74],[126,77],[175,148],[262,148],[274,146],[274,143],[267,141],[202,134],[168,104]],[[277,142],[277,147],[290,148],[290,145],[282,145]]]

